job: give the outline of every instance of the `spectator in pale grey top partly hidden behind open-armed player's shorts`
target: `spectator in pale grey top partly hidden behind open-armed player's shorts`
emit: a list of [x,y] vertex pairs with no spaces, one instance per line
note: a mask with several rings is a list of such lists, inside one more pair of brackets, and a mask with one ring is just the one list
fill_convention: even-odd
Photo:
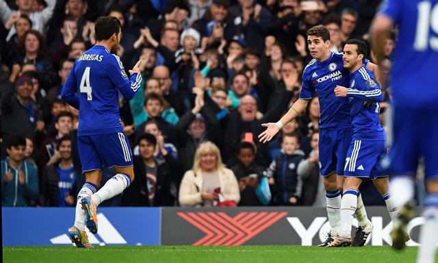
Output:
[[302,205],[313,205],[326,207],[326,197],[324,190],[324,181],[320,173],[320,152],[318,150],[318,143],[320,141],[320,131],[316,129],[311,134],[310,145],[312,151],[309,158],[302,160],[298,164],[296,172],[302,179]]

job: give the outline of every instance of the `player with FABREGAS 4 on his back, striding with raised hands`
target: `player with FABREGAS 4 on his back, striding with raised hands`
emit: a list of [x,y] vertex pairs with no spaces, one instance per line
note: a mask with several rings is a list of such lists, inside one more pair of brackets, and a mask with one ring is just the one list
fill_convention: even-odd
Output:
[[[120,58],[112,53],[120,42],[120,21],[112,16],[99,17],[94,30],[96,45],[75,61],[62,88],[62,99],[79,110],[77,143],[86,177],[77,195],[75,225],[70,229],[77,247],[92,247],[85,227],[97,233],[96,207],[123,192],[134,179],[131,147],[119,117],[118,93],[132,99],[142,81],[140,61],[129,71],[129,79]],[[97,191],[104,166],[112,166],[117,174]]]

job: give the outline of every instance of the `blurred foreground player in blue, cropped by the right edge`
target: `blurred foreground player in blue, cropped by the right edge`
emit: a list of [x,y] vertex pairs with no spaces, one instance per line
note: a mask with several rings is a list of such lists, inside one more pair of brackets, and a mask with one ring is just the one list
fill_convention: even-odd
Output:
[[391,232],[393,247],[404,247],[403,234],[414,216],[418,159],[424,158],[424,225],[417,262],[434,262],[438,243],[438,0],[387,0],[372,23],[372,49],[378,63],[388,29],[398,25],[391,69],[391,132],[388,153],[391,195],[403,205]]

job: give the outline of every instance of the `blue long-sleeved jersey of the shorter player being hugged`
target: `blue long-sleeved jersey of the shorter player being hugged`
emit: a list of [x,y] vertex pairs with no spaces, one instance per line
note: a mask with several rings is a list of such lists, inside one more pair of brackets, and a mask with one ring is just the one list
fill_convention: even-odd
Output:
[[[383,101],[382,90],[373,73],[364,65],[350,73],[347,97],[352,118],[352,140],[385,140],[385,129],[378,119],[379,102]],[[363,101],[375,103],[365,107]]]

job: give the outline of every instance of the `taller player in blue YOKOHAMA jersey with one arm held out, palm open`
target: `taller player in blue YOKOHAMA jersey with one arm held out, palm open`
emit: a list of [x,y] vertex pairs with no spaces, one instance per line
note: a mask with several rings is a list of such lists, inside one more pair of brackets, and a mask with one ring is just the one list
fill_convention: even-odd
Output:
[[[268,142],[293,118],[300,116],[309,99],[316,91],[320,101],[320,171],[324,177],[326,190],[327,214],[331,232],[318,247],[326,247],[337,238],[341,230],[341,191],[344,186],[344,164],[348,146],[351,142],[351,118],[348,99],[336,97],[336,86],[347,87],[350,84],[349,72],[343,66],[342,53],[330,51],[330,32],[324,25],[317,25],[307,31],[307,45],[313,60],[307,64],[302,73],[300,98],[277,123],[263,123],[267,127],[259,135],[261,142]],[[376,65],[365,65],[376,70]],[[339,175],[339,176],[337,176]],[[340,190],[339,190],[340,189]],[[366,237],[372,231],[372,223],[366,216],[363,201],[359,193],[356,217],[359,227],[352,242],[353,246],[365,245]]]

